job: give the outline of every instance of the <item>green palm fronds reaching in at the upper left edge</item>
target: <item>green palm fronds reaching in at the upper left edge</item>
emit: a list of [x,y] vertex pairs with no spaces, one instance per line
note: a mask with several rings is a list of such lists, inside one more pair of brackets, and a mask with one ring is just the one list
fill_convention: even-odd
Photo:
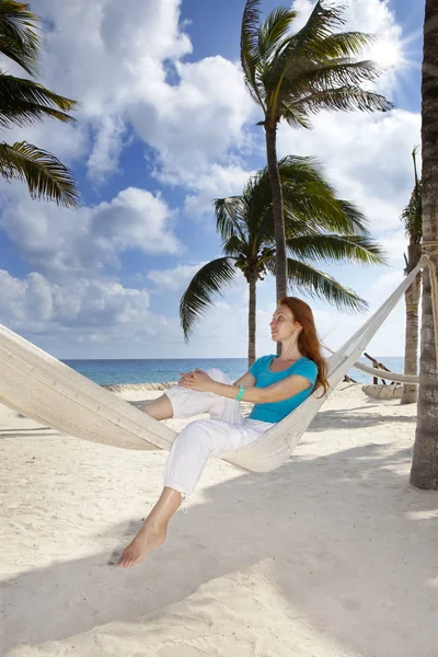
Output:
[[[0,0],[0,55],[20,65],[31,78],[38,72],[38,21],[27,3]],[[32,79],[10,76],[0,68],[0,128],[30,125],[46,116],[71,122],[73,118],[66,112],[76,106],[74,101]],[[0,141],[0,175],[25,182],[34,198],[67,207],[78,204],[78,192],[68,169],[55,155],[26,141],[12,145]]]

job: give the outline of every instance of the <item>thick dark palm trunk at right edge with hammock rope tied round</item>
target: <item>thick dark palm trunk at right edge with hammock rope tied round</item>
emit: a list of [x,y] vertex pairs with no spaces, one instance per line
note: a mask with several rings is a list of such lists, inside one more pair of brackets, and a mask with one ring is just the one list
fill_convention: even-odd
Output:
[[[422,84],[423,250],[438,249],[438,3],[426,0]],[[433,244],[435,242],[435,244]],[[438,256],[431,256],[438,272]],[[418,415],[411,483],[438,488],[438,371],[428,268],[423,270]]]

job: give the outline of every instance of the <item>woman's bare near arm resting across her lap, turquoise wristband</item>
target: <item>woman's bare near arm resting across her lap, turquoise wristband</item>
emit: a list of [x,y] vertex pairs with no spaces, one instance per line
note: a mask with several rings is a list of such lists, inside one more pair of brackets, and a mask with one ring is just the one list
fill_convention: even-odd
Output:
[[[233,400],[237,397],[242,383],[239,383],[238,385],[219,383],[218,381],[210,379],[210,377],[201,370],[195,370],[189,377],[184,378],[180,385],[192,390],[198,390],[199,392],[214,392],[215,394],[220,394],[221,396]],[[288,400],[311,387],[311,381],[306,377],[291,374],[266,388],[247,388],[241,399],[244,402],[252,402],[254,404],[272,404]]]

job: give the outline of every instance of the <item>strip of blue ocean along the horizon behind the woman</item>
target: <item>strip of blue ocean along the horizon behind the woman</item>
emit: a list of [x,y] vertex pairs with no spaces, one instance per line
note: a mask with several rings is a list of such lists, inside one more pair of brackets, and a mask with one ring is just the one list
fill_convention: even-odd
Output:
[[[376,357],[391,371],[403,373],[404,359],[400,357]],[[360,358],[371,365],[367,358]],[[180,372],[212,367],[223,370],[232,381],[247,369],[246,358],[148,358],[139,360],[64,360],[88,379],[99,384],[166,383],[177,381]],[[351,369],[348,376],[358,383],[372,383],[372,377]]]

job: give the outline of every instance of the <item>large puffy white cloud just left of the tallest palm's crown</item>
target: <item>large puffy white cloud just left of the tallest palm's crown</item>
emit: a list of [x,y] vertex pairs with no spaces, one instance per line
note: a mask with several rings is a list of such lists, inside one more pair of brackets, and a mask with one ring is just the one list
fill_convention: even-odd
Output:
[[176,70],[177,85],[148,84],[128,115],[158,151],[160,178],[184,184],[205,175],[210,162],[224,161],[230,147],[245,145],[243,127],[255,107],[239,66],[223,57],[178,62]]

